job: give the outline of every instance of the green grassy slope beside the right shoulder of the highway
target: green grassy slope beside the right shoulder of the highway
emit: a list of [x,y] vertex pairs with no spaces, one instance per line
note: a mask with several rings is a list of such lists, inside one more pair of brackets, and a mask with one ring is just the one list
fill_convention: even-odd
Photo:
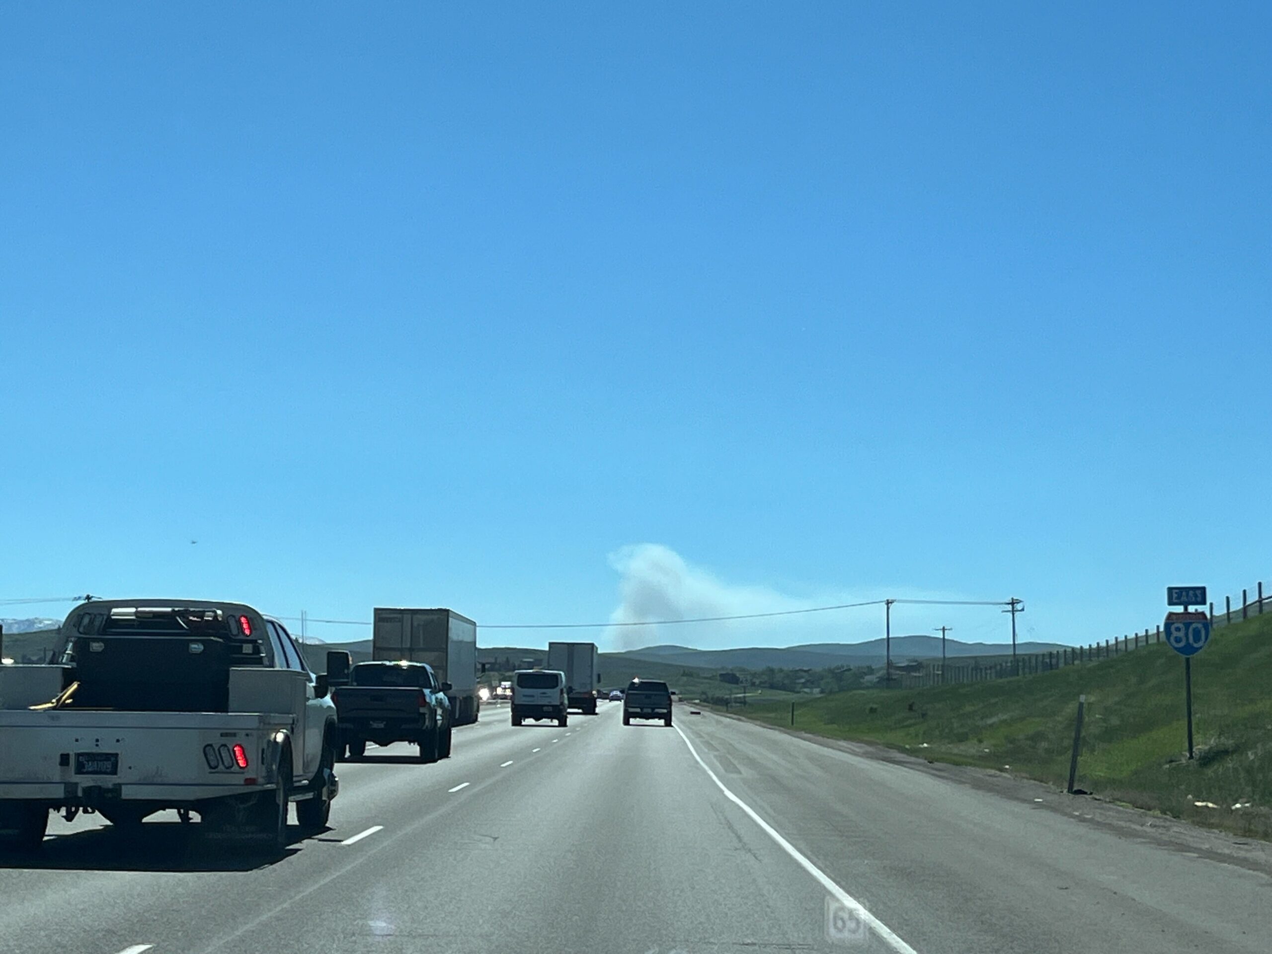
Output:
[[[1197,758],[1192,762],[1183,668],[1165,644],[1154,644],[1016,679],[803,697],[795,725],[934,761],[999,771],[1010,766],[1013,775],[1062,787],[1077,697],[1085,693],[1079,787],[1192,822],[1272,837],[1272,614],[1216,630],[1193,659]],[[789,702],[753,700],[747,710],[734,711],[790,724]],[[1198,808],[1196,801],[1219,808]],[[1253,805],[1233,809],[1238,801]]]

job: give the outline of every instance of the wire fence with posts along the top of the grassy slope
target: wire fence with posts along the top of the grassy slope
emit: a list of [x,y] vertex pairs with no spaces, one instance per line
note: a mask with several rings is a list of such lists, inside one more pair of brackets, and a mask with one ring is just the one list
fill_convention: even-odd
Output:
[[[1215,611],[1215,604],[1208,607],[1211,630],[1219,630],[1243,619],[1262,616],[1264,612],[1272,613],[1272,589],[1264,595],[1263,581],[1259,580],[1254,589],[1243,589],[1240,602],[1234,607],[1233,597],[1225,595],[1222,609]],[[1013,658],[950,658],[941,660],[917,660],[912,663],[893,663],[890,679],[885,674],[880,679],[880,686],[890,684],[893,688],[923,688],[927,686],[946,686],[954,683],[987,682],[990,679],[1007,679],[1018,675],[1034,675],[1066,665],[1085,665],[1099,663],[1105,659],[1116,659],[1127,653],[1133,653],[1145,646],[1156,645],[1163,641],[1161,623],[1155,627],[1145,627],[1144,632],[1113,636],[1104,642],[1091,642],[1085,646],[1071,646],[1047,653],[1019,654]]]

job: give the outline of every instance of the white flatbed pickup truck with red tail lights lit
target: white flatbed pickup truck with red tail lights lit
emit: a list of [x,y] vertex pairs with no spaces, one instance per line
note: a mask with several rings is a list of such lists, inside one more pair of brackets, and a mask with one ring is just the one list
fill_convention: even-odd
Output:
[[340,790],[326,675],[242,603],[78,605],[53,663],[0,665],[0,851],[37,848],[51,812],[164,809],[281,848],[291,803],[318,829]]

